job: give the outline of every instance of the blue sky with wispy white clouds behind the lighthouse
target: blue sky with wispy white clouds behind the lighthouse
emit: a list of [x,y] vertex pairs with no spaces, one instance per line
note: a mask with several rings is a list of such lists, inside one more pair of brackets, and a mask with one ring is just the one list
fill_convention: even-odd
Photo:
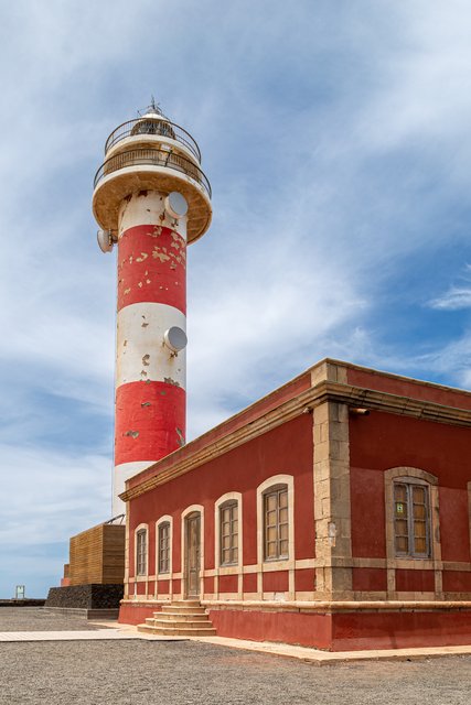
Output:
[[107,135],[151,95],[213,188],[188,438],[323,357],[471,386],[468,0],[0,0],[0,597],[110,518]]

